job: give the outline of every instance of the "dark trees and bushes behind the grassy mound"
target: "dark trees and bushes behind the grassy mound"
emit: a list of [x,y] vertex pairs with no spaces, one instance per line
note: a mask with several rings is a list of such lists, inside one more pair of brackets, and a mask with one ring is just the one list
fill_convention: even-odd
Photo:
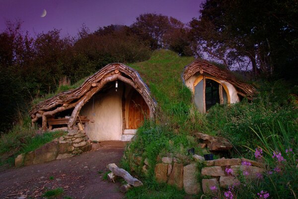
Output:
[[34,98],[55,92],[61,80],[73,84],[108,63],[144,61],[161,48],[207,57],[252,77],[295,79],[297,12],[295,0],[206,0],[187,24],[145,13],[130,26],[90,32],[82,24],[75,37],[62,37],[57,29],[31,36],[21,22],[8,21],[0,32],[0,131]]

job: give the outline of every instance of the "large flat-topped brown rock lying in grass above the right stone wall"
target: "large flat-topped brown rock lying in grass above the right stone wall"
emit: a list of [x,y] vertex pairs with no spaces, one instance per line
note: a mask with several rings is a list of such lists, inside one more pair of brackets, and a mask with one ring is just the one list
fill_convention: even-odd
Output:
[[214,137],[211,135],[198,133],[198,138],[205,141],[210,151],[227,151],[233,148],[231,143],[223,137]]

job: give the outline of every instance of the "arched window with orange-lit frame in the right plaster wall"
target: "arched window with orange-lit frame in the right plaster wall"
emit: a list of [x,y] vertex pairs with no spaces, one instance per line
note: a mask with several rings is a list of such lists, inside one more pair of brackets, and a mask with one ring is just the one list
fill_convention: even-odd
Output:
[[217,103],[229,103],[227,88],[213,78],[199,77],[195,81],[194,87],[195,104],[200,112],[205,113],[206,110]]

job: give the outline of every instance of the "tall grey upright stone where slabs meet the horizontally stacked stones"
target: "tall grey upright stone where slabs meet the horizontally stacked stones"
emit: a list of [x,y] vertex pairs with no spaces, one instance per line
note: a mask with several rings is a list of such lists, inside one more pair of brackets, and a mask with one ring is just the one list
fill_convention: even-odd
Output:
[[186,194],[199,194],[200,184],[197,181],[197,173],[196,164],[183,167],[183,188]]

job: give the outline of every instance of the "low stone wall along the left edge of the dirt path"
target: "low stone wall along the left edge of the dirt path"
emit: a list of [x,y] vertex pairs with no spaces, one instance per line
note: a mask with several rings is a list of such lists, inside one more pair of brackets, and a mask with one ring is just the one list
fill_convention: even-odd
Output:
[[40,164],[69,158],[91,150],[90,140],[82,130],[70,130],[67,135],[46,143],[35,151],[22,153],[15,159],[15,167]]

